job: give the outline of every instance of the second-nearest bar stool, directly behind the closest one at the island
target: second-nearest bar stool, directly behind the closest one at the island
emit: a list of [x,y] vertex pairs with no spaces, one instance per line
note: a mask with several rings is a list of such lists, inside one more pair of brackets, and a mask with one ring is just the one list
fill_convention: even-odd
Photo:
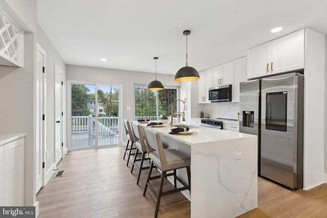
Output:
[[[136,184],[138,185],[139,177],[141,176],[141,171],[143,169],[148,169],[150,166],[143,167],[143,161],[149,160],[150,158],[146,158],[147,148],[145,145],[144,134],[143,134],[143,127],[137,125],[136,123],[131,123],[133,136],[134,136],[134,144],[136,146],[135,157],[133,161],[133,166],[131,173],[133,173],[134,166],[138,169],[138,176]],[[141,158],[137,159],[137,155],[142,154]],[[136,162],[141,161],[139,167],[137,166]]]

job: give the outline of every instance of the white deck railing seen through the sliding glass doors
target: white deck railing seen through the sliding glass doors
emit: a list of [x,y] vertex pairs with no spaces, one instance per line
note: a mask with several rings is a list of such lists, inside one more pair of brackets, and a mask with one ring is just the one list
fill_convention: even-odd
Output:
[[[98,135],[115,136],[118,135],[119,117],[98,117]],[[96,135],[96,118],[89,116],[72,116],[72,134],[88,133],[89,137]]]

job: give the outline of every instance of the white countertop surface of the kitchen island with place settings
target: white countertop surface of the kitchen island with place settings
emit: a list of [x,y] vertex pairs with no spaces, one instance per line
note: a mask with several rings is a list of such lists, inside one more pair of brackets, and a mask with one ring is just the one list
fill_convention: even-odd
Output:
[[[147,124],[140,124],[142,126],[146,126]],[[181,124],[174,124],[181,125]],[[232,132],[214,128],[207,128],[201,126],[192,126],[192,125],[185,125],[191,127],[189,131],[193,131],[198,133],[197,135],[171,135],[171,127],[169,124],[165,124],[165,127],[151,127],[152,129],[160,132],[161,134],[183,142],[185,144],[189,144],[190,146],[194,144],[201,144],[207,142],[217,142],[222,140],[230,140],[236,138],[246,138],[246,137],[253,137],[253,135],[239,133],[239,132]]]

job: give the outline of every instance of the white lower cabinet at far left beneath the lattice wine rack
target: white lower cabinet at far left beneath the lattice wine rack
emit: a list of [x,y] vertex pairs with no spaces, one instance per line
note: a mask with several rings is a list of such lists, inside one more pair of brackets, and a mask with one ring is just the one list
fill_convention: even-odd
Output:
[[0,206],[24,205],[25,137],[0,146]]

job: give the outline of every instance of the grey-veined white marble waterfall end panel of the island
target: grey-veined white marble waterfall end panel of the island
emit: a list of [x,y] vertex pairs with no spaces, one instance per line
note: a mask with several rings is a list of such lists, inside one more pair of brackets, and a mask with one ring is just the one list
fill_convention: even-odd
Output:
[[192,217],[236,217],[258,207],[256,136],[194,144],[191,152]]

